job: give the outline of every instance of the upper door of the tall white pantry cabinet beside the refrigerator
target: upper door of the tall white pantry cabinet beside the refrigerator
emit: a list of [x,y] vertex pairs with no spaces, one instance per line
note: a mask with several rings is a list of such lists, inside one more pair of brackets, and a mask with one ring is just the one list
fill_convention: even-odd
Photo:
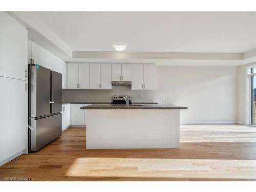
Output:
[[10,15],[0,12],[0,76],[27,80],[27,70],[28,31]]

